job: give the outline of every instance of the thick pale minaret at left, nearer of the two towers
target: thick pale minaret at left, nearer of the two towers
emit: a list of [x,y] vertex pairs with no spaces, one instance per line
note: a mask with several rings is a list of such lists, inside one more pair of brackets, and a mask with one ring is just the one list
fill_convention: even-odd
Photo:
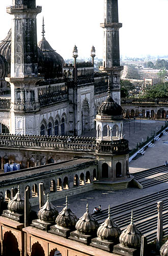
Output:
[[[36,16],[41,7],[36,0],[13,0],[7,7],[12,15],[11,77],[11,133],[26,134],[26,119],[39,110],[37,82],[38,53]],[[31,124],[29,124],[31,125]]]

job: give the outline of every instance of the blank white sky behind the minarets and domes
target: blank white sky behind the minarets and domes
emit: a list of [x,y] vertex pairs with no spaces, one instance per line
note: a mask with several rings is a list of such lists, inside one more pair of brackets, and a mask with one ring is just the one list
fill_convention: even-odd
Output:
[[[41,39],[42,16],[45,37],[64,59],[72,57],[76,44],[80,57],[89,57],[92,45],[102,58],[103,0],[36,0],[42,6],[37,16],[38,41]],[[168,1],[118,0],[120,53],[123,56],[168,55]],[[12,0],[0,0],[0,40],[10,29],[11,16],[6,6]]]

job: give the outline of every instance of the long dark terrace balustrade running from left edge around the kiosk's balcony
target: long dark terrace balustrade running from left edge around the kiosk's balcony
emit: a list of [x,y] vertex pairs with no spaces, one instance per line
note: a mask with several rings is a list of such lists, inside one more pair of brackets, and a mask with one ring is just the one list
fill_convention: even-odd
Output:
[[125,139],[113,142],[96,143],[94,137],[67,137],[67,136],[35,136],[0,134],[0,147],[22,147],[38,149],[52,149],[65,151],[87,152],[118,152],[128,151],[128,141]]

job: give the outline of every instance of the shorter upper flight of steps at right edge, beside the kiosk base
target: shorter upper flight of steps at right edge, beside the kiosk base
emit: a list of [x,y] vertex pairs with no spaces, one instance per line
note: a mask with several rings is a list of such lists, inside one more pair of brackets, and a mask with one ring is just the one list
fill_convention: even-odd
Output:
[[[163,173],[159,176],[156,177],[152,177],[151,179],[145,179],[146,177],[158,174],[158,173],[162,173],[162,172],[167,172],[167,173]],[[154,186],[163,182],[167,182],[168,181],[168,166],[158,166],[158,167],[154,167],[148,170],[143,170],[142,172],[139,173],[133,173],[132,174],[135,178],[135,180],[137,180],[139,183],[141,183],[143,185],[143,188],[146,187],[150,187],[150,186]],[[144,178],[144,179],[143,179]]]

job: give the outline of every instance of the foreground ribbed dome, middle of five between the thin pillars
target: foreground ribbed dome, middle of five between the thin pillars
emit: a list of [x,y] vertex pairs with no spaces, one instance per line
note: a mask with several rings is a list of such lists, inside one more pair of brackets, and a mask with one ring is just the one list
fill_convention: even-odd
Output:
[[90,214],[88,210],[88,204],[87,204],[87,211],[76,223],[75,226],[76,230],[79,231],[82,234],[94,234],[98,229],[98,222],[96,219]]

